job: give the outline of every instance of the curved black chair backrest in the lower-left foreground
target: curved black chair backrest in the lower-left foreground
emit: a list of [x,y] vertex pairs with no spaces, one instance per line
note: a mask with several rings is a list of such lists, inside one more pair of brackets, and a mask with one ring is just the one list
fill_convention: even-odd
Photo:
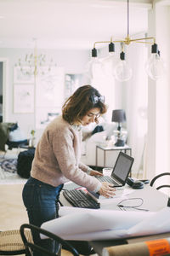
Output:
[[61,246],[65,246],[68,248],[68,250],[74,255],[74,256],[79,256],[79,253],[77,250],[71,246],[67,241],[63,240],[59,236],[54,235],[53,233],[49,232],[48,230],[43,230],[35,225],[32,224],[22,224],[20,226],[20,236],[22,238],[22,241],[26,247],[26,256],[31,256],[33,251],[39,252],[39,253],[44,253],[45,255],[60,255],[61,247],[59,247],[58,253],[51,253],[47,249],[35,244],[32,241],[28,241],[26,237],[26,230],[31,230],[31,231],[37,231],[39,235],[45,235],[48,236],[48,238],[52,239],[53,241],[59,242]]

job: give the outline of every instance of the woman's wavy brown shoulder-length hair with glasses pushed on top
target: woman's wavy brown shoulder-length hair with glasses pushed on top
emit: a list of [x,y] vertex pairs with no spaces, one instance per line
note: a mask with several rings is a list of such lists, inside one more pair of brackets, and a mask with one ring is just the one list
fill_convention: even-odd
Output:
[[83,85],[66,100],[62,107],[62,115],[67,122],[74,124],[81,122],[82,117],[92,108],[99,108],[101,114],[105,113],[105,96],[101,96],[91,85]]

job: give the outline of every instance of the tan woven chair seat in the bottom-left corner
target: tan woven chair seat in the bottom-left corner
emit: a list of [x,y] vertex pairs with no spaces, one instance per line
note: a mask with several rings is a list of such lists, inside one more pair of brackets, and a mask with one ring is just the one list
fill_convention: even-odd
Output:
[[[31,231],[26,230],[26,239],[32,241]],[[20,236],[20,230],[0,232],[0,255],[20,255],[26,253],[26,247]]]

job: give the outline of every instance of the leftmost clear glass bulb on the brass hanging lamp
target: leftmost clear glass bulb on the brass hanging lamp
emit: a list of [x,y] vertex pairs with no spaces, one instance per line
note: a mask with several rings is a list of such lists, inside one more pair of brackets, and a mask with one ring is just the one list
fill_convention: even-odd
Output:
[[92,57],[92,60],[88,62],[86,67],[86,73],[90,79],[94,79],[96,76],[103,75],[104,65],[102,61],[99,61],[97,57]]

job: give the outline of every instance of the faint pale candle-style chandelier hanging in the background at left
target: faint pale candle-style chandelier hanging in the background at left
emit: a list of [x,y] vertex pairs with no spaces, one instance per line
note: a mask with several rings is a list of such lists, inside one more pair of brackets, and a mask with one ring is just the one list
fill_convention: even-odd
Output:
[[[57,65],[53,59],[47,61],[47,57],[44,54],[37,54],[37,39],[33,38],[35,43],[34,51],[31,54],[26,54],[24,60],[19,59],[16,67],[20,67],[20,72],[26,76],[44,76],[51,72],[52,67]],[[47,63],[48,62],[48,63]]]

